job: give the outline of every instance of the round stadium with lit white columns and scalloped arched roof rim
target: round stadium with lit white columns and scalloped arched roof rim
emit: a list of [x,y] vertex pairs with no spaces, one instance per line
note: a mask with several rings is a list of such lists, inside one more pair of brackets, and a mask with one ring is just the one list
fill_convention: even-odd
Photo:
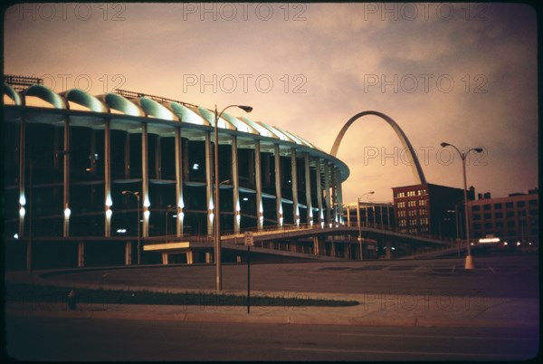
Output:
[[140,236],[214,235],[215,187],[224,234],[338,219],[347,165],[239,108],[57,93],[20,76],[5,76],[4,104],[8,266],[28,265],[29,242],[33,264],[47,268],[133,263]]

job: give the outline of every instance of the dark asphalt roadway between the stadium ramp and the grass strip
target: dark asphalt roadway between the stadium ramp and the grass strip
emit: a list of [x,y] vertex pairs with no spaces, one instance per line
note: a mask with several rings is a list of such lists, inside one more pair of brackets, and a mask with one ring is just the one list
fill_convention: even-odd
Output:
[[[475,257],[477,269],[463,269],[463,258],[333,263],[262,263],[251,266],[254,291],[386,293],[537,298],[538,255]],[[138,269],[72,271],[48,278],[63,283],[120,287],[215,288],[214,265],[172,265]],[[244,264],[224,264],[224,290],[246,289]]]

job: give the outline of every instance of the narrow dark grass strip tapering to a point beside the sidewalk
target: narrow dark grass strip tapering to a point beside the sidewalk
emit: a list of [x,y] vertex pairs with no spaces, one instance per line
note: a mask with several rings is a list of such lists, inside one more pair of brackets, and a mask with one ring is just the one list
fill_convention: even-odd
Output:
[[[181,306],[245,306],[247,297],[207,292],[150,292],[106,289],[73,289],[76,302],[108,304],[167,304]],[[71,288],[24,283],[6,283],[5,300],[13,302],[67,302]],[[299,293],[284,296],[252,294],[252,306],[347,307],[357,301],[314,299]]]

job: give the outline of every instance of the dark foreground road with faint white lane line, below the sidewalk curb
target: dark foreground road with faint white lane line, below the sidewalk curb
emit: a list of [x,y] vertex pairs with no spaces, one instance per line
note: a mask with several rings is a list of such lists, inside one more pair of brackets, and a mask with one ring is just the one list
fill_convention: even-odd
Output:
[[517,360],[530,330],[383,328],[8,317],[23,360]]

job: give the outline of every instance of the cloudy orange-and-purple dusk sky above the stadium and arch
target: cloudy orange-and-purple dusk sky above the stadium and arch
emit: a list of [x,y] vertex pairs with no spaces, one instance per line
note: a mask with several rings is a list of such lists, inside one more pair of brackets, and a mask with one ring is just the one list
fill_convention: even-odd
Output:
[[[429,183],[493,197],[538,187],[537,15],[461,3],[19,4],[4,72],[53,91],[139,91],[229,110],[330,152],[343,125],[395,120]],[[343,201],[391,202],[417,184],[395,131],[358,119],[338,150]],[[367,192],[375,192],[373,195]]]

